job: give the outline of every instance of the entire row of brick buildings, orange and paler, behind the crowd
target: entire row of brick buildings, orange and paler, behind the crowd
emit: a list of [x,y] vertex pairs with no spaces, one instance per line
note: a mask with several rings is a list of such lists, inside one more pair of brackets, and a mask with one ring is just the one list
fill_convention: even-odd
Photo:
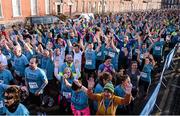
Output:
[[159,9],[161,0],[0,0],[0,24],[24,21],[29,16],[104,13]]

